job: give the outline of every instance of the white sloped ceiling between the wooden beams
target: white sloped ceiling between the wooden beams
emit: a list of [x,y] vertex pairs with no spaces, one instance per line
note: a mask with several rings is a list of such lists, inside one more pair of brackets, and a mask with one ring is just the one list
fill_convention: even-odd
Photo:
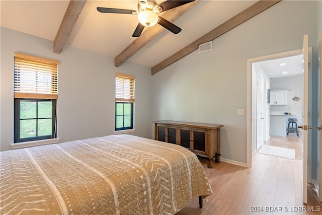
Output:
[[[152,67],[256,2],[202,0],[174,22],[182,28],[179,34],[165,29],[128,61]],[[53,41],[68,3],[1,0],[1,26]],[[71,45],[114,58],[135,39],[136,15],[103,14],[97,7],[137,10],[137,0],[88,0],[62,52]]]

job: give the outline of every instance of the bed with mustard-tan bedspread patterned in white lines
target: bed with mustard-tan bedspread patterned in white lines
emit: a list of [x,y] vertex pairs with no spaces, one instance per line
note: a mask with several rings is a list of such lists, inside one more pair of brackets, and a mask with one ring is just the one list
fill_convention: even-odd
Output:
[[189,150],[119,134],[0,153],[1,214],[175,214],[212,194]]

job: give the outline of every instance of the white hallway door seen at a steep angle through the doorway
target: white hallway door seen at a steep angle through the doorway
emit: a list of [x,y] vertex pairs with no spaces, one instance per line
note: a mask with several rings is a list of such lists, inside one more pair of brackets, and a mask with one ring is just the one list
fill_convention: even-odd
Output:
[[257,76],[256,96],[256,150],[263,146],[263,79]]

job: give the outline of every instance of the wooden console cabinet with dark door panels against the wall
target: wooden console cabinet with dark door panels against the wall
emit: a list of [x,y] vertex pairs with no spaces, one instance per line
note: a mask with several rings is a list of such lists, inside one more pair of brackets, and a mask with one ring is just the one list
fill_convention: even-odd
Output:
[[207,167],[212,168],[212,159],[220,162],[220,128],[223,125],[160,120],[155,124],[154,139],[185,147],[198,156],[208,160]]

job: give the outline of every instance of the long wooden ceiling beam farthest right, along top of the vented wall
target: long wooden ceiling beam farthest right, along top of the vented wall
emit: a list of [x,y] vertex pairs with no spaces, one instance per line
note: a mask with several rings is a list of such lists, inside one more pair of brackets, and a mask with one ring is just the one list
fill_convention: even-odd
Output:
[[191,52],[198,49],[198,45],[203,44],[205,42],[212,41],[217,37],[223,35],[224,33],[230,31],[231,29],[237,27],[238,25],[246,22],[247,20],[255,17],[256,15],[262,13],[266,9],[274,6],[275,4],[281,1],[259,1],[246,9],[245,11],[237,14],[230,20],[226,21],[225,23],[221,24],[217,28],[213,29],[209,33],[205,34],[204,36],[200,37],[196,41],[192,42],[185,48],[181,49],[177,53],[173,54],[172,56],[168,57],[164,61],[158,63],[157,65],[151,68],[151,74],[155,74],[158,71],[164,69],[165,67],[171,65],[172,63],[176,62],[177,60],[183,58],[184,56],[190,54]]

